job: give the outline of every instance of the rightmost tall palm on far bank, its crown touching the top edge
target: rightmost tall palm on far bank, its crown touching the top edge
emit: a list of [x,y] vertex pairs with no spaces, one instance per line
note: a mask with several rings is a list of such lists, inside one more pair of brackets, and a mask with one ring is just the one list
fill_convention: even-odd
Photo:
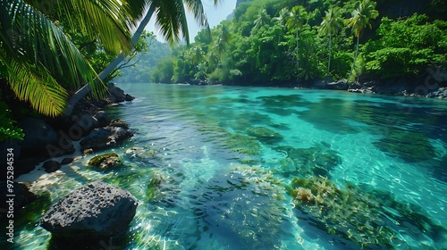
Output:
[[358,8],[351,12],[351,18],[346,21],[348,27],[354,31],[355,36],[357,37],[357,46],[356,46],[356,54],[354,55],[354,62],[352,63],[352,67],[350,68],[350,75],[348,80],[350,80],[350,76],[352,71],[354,70],[354,65],[358,56],[358,41],[360,36],[363,34],[363,30],[367,27],[372,28],[371,20],[375,19],[379,15],[379,12],[375,10],[375,2],[370,0],[361,0],[358,3]]

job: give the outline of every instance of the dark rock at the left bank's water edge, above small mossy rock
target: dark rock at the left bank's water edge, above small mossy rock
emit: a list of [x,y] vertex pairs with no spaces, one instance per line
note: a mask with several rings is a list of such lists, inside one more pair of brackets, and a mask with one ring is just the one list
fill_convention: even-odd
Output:
[[131,130],[121,127],[109,126],[94,129],[89,136],[80,141],[80,149],[101,150],[120,144],[123,140],[132,136],[133,132]]

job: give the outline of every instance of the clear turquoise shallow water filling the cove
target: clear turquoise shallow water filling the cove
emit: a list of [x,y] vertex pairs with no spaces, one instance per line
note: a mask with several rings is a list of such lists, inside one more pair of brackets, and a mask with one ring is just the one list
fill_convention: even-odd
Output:
[[113,150],[123,166],[95,171],[90,155],[35,182],[46,202],[22,212],[34,221],[17,222],[16,248],[67,249],[38,218],[95,179],[126,188],[139,207],[126,237],[88,243],[93,249],[447,248],[443,101],[120,87],[137,96],[108,110],[137,130]]

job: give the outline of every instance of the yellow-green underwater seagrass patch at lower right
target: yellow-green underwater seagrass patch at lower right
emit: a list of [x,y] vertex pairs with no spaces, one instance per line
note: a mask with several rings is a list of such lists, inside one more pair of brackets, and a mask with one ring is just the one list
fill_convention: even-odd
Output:
[[316,176],[295,177],[287,188],[296,208],[316,218],[321,223],[318,227],[361,247],[404,246],[398,237],[402,230],[444,240],[446,229],[423,215],[422,208],[401,204],[388,193],[366,192],[350,183],[341,189]]

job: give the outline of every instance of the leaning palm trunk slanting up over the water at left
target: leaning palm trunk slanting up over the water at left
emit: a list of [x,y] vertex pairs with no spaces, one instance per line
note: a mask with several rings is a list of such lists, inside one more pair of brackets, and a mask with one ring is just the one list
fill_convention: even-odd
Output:
[[[156,4],[158,1],[153,1],[152,4],[150,5],[150,8],[148,10],[148,12],[146,13],[144,19],[139,22],[139,27],[138,29],[135,31],[135,33],[133,34],[133,36],[131,37],[131,43],[132,45],[135,45],[139,39],[139,37],[141,37],[141,34],[143,33],[143,30],[146,28],[146,26],[148,25],[152,14],[154,13],[155,9],[156,9]],[[114,69],[120,64],[122,63],[122,61],[124,60],[125,56],[124,54],[119,54],[118,56],[116,56],[116,58],[114,59],[114,61],[112,61],[112,63],[109,63],[109,65],[107,65],[107,67],[105,67],[104,71],[100,72],[97,76],[97,80],[101,80],[104,81],[107,76],[114,71]],[[90,84],[86,84],[83,87],[80,87],[80,89],[78,91],[76,91],[76,93],[73,94],[73,96],[70,98],[70,100],[68,101],[67,107],[65,108],[65,110],[63,111],[63,115],[65,116],[69,116],[72,114],[73,108],[74,106],[80,101],[80,99],[82,99],[84,96],[87,96],[87,94],[89,94],[91,90],[91,86]]]

